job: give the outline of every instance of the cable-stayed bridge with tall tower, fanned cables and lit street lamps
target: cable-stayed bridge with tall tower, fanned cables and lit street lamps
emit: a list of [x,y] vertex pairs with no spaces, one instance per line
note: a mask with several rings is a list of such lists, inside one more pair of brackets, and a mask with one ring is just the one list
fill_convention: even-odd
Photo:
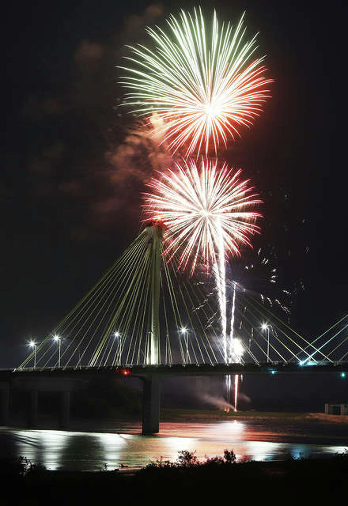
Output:
[[[308,339],[290,327],[279,299],[233,279],[223,283],[222,290],[219,273],[204,268],[194,277],[181,274],[175,259],[164,260],[161,225],[145,227],[46,338],[31,343],[22,364],[2,372],[5,418],[9,382],[35,392],[65,381],[67,408],[69,382],[96,374],[139,376],[143,429],[153,433],[159,381],[167,375],[348,373],[348,315]],[[32,398],[34,412],[37,390]]]

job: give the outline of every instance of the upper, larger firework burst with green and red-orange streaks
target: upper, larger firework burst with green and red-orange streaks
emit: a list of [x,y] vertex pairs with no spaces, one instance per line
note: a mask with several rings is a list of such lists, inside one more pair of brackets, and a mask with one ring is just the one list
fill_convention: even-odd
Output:
[[201,9],[193,15],[181,11],[170,16],[169,32],[147,28],[153,49],[130,47],[132,67],[121,83],[130,90],[125,97],[134,113],[163,119],[159,126],[172,152],[183,148],[215,153],[221,142],[240,137],[250,127],[270,97],[272,79],[265,76],[264,57],[255,57],[256,35],[244,40],[244,14],[233,29],[219,24],[214,11],[206,28]]

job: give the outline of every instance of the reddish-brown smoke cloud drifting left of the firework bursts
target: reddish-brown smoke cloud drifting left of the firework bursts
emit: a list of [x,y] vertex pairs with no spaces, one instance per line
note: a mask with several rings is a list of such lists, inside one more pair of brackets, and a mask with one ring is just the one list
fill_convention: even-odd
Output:
[[144,123],[128,114],[117,86],[125,45],[140,43],[145,26],[162,15],[162,4],[151,4],[125,18],[109,41],[81,39],[71,52],[68,80],[24,105],[29,128],[35,123],[42,131],[31,143],[31,191],[41,205],[59,202],[57,219],[64,214],[72,240],[107,237],[120,220],[136,228],[146,182],[171,161],[154,131],[159,118]]

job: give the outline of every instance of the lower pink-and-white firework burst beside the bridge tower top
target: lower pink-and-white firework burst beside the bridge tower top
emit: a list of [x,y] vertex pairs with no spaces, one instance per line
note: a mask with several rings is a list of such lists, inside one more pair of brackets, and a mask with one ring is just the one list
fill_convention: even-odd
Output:
[[164,254],[168,260],[178,254],[179,268],[189,266],[192,275],[202,261],[221,271],[226,257],[239,256],[240,244],[251,245],[249,236],[259,232],[255,220],[262,215],[252,208],[262,201],[241,170],[226,163],[219,169],[217,159],[175,165],[150,181],[145,216],[166,225]]

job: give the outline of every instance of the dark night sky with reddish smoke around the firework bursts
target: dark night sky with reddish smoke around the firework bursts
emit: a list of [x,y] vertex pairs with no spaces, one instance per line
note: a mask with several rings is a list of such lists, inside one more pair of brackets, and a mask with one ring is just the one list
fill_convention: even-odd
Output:
[[[231,5],[232,4],[232,5]],[[12,3],[5,22],[0,367],[18,365],[134,239],[158,165],[127,141],[119,107],[125,44],[195,3]],[[211,3],[202,2],[206,12]],[[263,234],[295,297],[291,325],[314,338],[346,312],[345,16],[340,2],[215,2],[246,9],[275,82],[243,139],[219,153],[265,201]],[[161,163],[163,159],[161,159]],[[304,287],[304,289],[303,289]]]

